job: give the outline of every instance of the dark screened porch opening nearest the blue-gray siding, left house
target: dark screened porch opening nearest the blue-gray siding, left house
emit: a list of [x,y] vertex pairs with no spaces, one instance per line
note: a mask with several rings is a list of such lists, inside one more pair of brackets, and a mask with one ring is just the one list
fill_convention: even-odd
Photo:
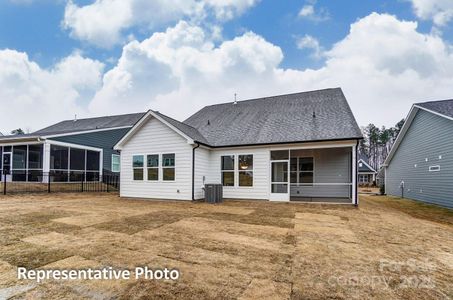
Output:
[[55,182],[98,181],[100,161],[98,151],[50,145],[50,172]]

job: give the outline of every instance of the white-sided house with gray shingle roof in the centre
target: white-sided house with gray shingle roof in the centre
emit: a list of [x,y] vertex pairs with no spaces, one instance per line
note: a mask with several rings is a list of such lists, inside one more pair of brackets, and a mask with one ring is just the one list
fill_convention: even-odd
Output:
[[339,88],[207,106],[179,122],[148,111],[118,142],[123,197],[357,204],[362,138]]

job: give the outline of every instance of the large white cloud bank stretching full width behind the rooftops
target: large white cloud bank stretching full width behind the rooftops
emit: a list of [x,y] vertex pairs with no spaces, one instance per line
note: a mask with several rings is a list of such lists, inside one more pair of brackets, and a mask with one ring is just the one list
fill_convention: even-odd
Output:
[[184,21],[129,42],[103,75],[102,64],[77,53],[46,70],[24,53],[3,50],[0,105],[8,110],[0,111],[0,131],[37,129],[74,113],[149,108],[182,120],[205,105],[232,101],[234,93],[241,100],[338,86],[360,125],[388,126],[414,102],[451,98],[451,49],[440,36],[418,32],[416,22],[373,13],[323,52],[318,69],[281,67],[282,50],[255,33],[217,45],[205,29]]

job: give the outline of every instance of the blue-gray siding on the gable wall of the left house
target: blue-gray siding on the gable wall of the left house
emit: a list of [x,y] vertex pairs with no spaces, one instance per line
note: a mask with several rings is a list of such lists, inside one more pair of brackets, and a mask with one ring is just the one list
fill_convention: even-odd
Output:
[[51,138],[51,140],[72,143],[96,148],[102,148],[104,153],[103,168],[111,171],[112,154],[119,154],[113,146],[129,131],[129,128],[105,130],[99,132],[67,135]]

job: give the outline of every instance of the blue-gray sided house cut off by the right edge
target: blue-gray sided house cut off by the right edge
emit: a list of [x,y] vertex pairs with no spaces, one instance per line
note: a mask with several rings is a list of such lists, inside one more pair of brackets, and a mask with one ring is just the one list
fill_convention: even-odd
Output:
[[388,195],[453,208],[453,100],[414,104],[384,166]]

